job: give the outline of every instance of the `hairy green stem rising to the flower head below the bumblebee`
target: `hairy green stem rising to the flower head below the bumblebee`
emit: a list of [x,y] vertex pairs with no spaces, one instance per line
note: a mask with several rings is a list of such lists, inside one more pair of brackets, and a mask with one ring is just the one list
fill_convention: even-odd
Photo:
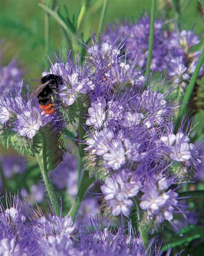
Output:
[[57,198],[53,191],[51,182],[49,180],[49,174],[48,174],[48,170],[47,170],[47,157],[46,157],[45,146],[44,146],[45,144],[46,144],[46,140],[42,136],[42,150],[39,154],[36,154],[36,156],[37,156],[38,164],[40,166],[40,170],[42,173],[42,178],[44,180],[44,184],[45,184],[48,196],[49,196],[49,200],[51,202],[51,205],[52,205],[56,215],[59,216],[60,215],[60,207],[58,205]]

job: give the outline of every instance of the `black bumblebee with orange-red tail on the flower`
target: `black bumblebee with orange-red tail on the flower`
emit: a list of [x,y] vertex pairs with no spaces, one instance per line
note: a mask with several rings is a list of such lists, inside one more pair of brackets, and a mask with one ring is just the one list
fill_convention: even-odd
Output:
[[31,94],[32,98],[38,97],[40,109],[48,115],[54,112],[53,96],[55,92],[53,90],[57,91],[59,84],[63,84],[60,76],[48,74],[41,78],[40,86]]

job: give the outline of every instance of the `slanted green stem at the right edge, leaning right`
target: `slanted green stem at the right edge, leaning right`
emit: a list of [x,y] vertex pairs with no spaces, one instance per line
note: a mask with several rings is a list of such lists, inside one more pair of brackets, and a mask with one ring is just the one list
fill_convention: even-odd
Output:
[[189,82],[189,85],[187,87],[186,93],[184,95],[183,104],[180,108],[180,111],[178,113],[177,119],[176,119],[176,125],[175,125],[175,133],[178,131],[178,128],[180,127],[180,123],[182,120],[182,117],[184,116],[184,113],[186,111],[187,103],[191,97],[191,93],[193,91],[193,88],[195,86],[195,82],[197,80],[197,76],[199,74],[200,68],[202,66],[202,63],[204,61],[204,48],[202,49],[202,53],[200,54],[200,58],[198,59],[197,65],[195,67],[195,70],[193,72],[193,75],[191,77],[191,80]]

